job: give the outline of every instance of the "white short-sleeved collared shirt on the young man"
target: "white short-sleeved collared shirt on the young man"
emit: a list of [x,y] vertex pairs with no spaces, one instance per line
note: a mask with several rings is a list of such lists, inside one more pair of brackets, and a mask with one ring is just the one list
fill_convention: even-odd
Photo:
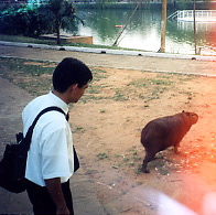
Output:
[[[65,114],[68,106],[52,92],[33,99],[23,110],[23,133],[37,114],[46,107],[57,106]],[[36,122],[28,153],[25,178],[45,186],[44,180],[61,178],[66,182],[74,173],[73,137],[65,116],[56,110],[45,112]]]

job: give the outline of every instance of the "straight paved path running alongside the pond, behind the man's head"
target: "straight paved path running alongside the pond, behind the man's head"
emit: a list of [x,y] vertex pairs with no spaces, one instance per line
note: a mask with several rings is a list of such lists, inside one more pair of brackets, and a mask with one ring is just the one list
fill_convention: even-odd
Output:
[[[17,45],[13,46],[13,43],[10,45],[2,45],[0,42],[0,56],[24,57],[54,62],[60,62],[63,57],[71,56],[83,61],[89,66],[141,69],[147,72],[183,73],[216,77],[215,57],[209,58],[209,61],[207,61],[208,58],[201,57],[202,60],[197,61],[192,60],[193,56],[191,56],[191,58],[190,56],[186,56],[186,58],[176,58],[177,56],[182,57],[182,55],[173,55],[174,57],[172,57],[171,55],[164,54],[158,55],[161,57],[152,57],[150,54],[147,54],[147,56],[138,56],[126,54],[101,54],[101,52],[98,50],[97,53],[90,53],[89,49],[86,51],[88,52],[60,51],[47,47],[34,49],[28,47],[28,45],[25,45],[25,47],[21,47]],[[96,51],[93,50],[93,52]]]

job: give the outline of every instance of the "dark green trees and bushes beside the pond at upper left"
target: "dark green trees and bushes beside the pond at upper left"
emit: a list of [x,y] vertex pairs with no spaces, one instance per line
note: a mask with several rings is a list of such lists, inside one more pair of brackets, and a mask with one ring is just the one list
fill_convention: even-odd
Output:
[[40,6],[18,4],[0,8],[0,32],[32,37],[56,33],[57,44],[61,44],[61,29],[76,32],[78,22],[83,23],[75,13],[75,7],[66,0],[47,0]]

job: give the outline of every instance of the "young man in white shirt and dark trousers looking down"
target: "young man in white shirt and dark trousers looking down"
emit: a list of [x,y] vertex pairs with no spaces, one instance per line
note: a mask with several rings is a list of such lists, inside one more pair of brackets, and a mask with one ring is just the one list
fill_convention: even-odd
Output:
[[24,135],[37,114],[56,106],[60,111],[42,115],[34,127],[28,153],[25,179],[34,214],[74,214],[69,178],[74,173],[73,137],[65,116],[93,79],[80,61],[64,58],[53,73],[53,90],[33,99],[23,110]]

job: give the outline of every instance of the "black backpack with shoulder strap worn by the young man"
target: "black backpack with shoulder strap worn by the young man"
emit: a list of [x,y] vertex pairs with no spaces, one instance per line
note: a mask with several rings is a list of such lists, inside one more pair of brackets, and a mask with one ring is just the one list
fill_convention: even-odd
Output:
[[[0,186],[12,192],[12,193],[22,193],[26,190],[25,186],[25,165],[28,151],[30,149],[30,143],[32,139],[32,133],[34,126],[39,118],[51,110],[56,110],[62,114],[64,111],[58,107],[47,107],[42,110],[36,118],[34,119],[32,126],[29,128],[26,136],[23,137],[23,133],[17,135],[17,143],[7,144],[3,153],[3,159],[0,162]],[[74,148],[74,171],[78,170],[79,162]]]

